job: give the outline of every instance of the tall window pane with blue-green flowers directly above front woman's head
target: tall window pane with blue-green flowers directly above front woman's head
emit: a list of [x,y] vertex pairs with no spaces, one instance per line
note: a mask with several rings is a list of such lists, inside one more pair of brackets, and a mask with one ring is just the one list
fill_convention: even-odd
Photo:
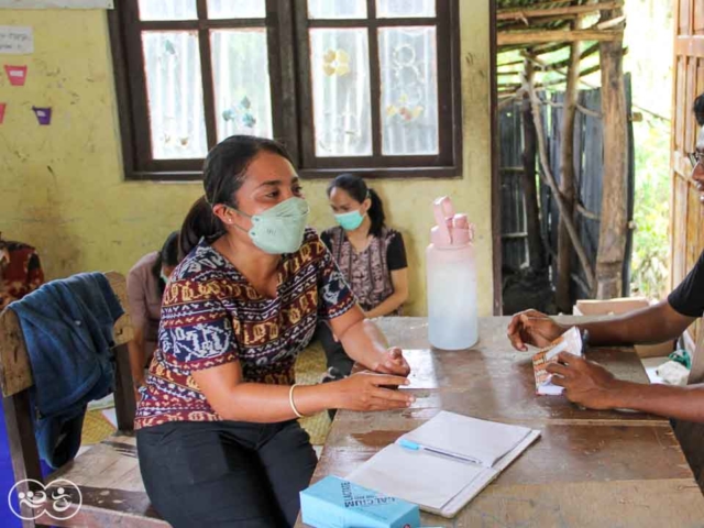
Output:
[[210,33],[218,141],[233,134],[273,138],[266,29]]

